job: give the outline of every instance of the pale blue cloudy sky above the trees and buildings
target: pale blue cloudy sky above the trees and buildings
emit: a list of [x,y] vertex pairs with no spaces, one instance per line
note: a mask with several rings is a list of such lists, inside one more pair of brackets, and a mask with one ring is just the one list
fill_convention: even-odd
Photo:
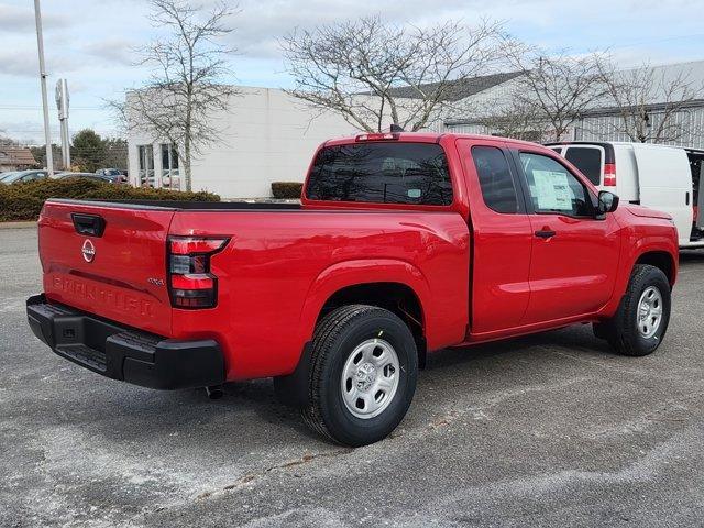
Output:
[[[195,0],[197,2],[197,0]],[[209,0],[205,0],[206,2]],[[704,59],[704,0],[242,0],[231,23],[233,82],[280,88],[289,79],[277,38],[296,26],[380,13],[398,23],[429,24],[480,18],[505,21],[515,36],[548,50],[610,48],[624,66]],[[148,70],[131,65],[134,46],[158,30],[146,0],[43,0],[52,125],[58,142],[54,86],[68,79],[72,133],[116,127],[103,100],[139,87]],[[393,44],[389,44],[393,45]],[[31,0],[0,0],[0,134],[42,138],[34,11]]]

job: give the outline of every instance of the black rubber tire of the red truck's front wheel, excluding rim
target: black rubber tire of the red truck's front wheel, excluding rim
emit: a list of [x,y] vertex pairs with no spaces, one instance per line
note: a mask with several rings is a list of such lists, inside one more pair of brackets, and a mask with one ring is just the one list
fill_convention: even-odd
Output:
[[[638,330],[639,301],[644,293],[654,287],[662,298],[662,316],[654,334],[645,337]],[[612,349],[623,355],[642,356],[654,352],[670,322],[671,310],[670,283],[664,273],[648,264],[637,264],[630,274],[626,293],[620,300],[616,315],[608,321],[594,327],[594,333],[608,341]],[[598,333],[597,333],[598,332]]]

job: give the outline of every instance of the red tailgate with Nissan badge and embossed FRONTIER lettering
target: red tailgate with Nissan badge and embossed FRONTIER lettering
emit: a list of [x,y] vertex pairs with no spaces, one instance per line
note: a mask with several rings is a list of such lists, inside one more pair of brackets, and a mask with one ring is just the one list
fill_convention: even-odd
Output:
[[48,200],[38,221],[46,297],[170,337],[166,238],[173,216],[166,208]]

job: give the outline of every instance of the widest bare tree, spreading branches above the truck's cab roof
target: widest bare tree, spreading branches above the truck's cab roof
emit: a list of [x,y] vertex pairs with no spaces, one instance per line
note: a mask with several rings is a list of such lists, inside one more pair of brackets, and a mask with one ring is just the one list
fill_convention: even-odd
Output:
[[387,121],[417,131],[440,119],[461,81],[499,57],[502,42],[501,26],[487,21],[422,29],[377,15],[297,30],[280,45],[295,80],[288,94],[374,132]]

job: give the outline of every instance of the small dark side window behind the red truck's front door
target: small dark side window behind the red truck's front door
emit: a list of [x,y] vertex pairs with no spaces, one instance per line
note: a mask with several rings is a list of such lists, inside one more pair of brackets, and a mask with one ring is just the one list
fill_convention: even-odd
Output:
[[486,207],[496,212],[518,211],[518,197],[506,156],[495,146],[472,147],[472,160],[480,178]]

